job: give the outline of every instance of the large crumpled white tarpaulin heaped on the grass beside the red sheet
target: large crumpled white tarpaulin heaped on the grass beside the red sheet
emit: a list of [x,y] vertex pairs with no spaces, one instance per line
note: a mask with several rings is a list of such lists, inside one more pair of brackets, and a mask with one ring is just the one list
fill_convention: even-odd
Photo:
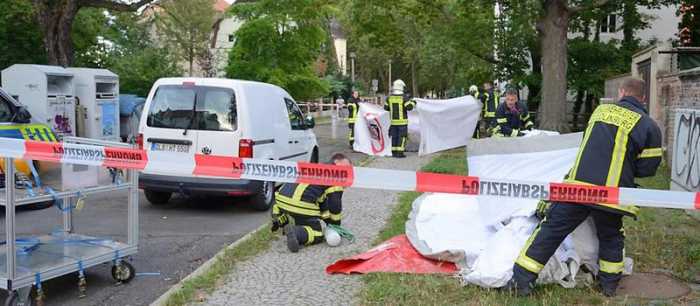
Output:
[[[581,134],[475,140],[468,144],[469,174],[561,181],[580,141]],[[457,263],[464,283],[502,287],[538,224],[532,216],[536,205],[536,200],[426,194],[413,203],[406,236],[424,256]],[[562,243],[538,282],[572,288],[581,265],[597,271],[597,258],[598,240],[589,218]],[[631,270],[632,261],[626,259],[623,273]]]

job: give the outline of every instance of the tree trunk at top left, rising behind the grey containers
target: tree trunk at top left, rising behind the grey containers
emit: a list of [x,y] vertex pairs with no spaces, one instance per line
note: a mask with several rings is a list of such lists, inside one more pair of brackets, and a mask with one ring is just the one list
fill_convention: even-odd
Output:
[[72,67],[75,63],[71,28],[78,14],[77,0],[32,0],[50,65]]

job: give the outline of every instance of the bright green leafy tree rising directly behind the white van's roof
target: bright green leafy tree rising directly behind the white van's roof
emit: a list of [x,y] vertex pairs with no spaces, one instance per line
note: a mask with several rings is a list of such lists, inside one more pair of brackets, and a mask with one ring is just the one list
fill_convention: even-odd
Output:
[[227,77],[275,84],[298,100],[328,92],[328,84],[315,75],[326,39],[323,24],[332,11],[326,1],[260,0],[229,10],[245,23],[235,34]]

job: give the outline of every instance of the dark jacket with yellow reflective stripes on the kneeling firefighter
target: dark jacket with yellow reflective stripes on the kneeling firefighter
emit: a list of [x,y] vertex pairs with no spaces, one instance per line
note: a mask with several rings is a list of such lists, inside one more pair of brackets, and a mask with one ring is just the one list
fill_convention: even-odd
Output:
[[275,194],[276,209],[292,217],[321,218],[340,225],[343,217],[343,187],[286,183]]

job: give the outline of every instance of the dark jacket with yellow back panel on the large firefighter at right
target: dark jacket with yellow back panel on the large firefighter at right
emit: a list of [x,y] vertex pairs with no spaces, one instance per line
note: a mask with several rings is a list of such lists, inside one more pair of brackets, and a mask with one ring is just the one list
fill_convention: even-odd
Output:
[[[593,112],[565,182],[634,188],[636,177],[656,174],[662,153],[659,126],[637,99],[626,96]],[[592,205],[631,216],[639,211],[633,205]]]

